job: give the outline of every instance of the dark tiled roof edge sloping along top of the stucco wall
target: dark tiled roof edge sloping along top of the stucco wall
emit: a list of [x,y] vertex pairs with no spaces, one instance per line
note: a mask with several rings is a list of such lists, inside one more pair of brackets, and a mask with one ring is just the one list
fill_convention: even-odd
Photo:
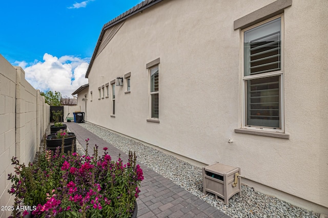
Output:
[[90,60],[90,63],[89,63],[89,66],[88,66],[88,69],[86,72],[86,76],[85,76],[86,78],[88,78],[88,76],[89,76],[93,61],[96,58],[96,54],[97,54],[97,51],[98,51],[100,43],[101,43],[101,39],[103,39],[106,30],[111,28],[112,26],[116,25],[117,23],[119,23],[123,20],[126,20],[127,18],[135,15],[136,13],[139,13],[140,11],[143,11],[149,7],[152,7],[153,5],[155,5],[161,1],[163,1],[163,0],[145,0],[144,2],[139,3],[138,5],[134,6],[133,8],[131,8],[131,9],[127,10],[126,12],[120,14],[119,16],[115,17],[111,21],[105,23],[105,25],[103,26],[103,28],[100,31],[100,35],[98,37],[95,49],[93,51],[93,54],[92,54],[92,57],[91,57],[91,60]]

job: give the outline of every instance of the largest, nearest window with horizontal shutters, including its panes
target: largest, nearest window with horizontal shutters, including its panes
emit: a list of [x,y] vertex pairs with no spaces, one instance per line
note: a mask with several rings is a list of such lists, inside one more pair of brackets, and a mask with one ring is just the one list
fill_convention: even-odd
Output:
[[282,129],[282,17],[243,31],[244,126]]

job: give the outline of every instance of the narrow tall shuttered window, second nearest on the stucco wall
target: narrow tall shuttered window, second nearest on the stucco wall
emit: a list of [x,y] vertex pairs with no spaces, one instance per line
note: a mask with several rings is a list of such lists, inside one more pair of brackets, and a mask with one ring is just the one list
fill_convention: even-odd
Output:
[[158,66],[150,69],[151,118],[158,118]]

